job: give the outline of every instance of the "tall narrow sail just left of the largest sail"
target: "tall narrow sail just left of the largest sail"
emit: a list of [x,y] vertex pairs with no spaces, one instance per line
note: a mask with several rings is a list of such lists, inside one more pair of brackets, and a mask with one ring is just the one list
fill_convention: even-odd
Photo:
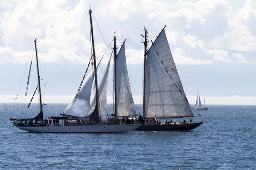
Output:
[[116,116],[137,116],[128,77],[125,44],[116,57]]

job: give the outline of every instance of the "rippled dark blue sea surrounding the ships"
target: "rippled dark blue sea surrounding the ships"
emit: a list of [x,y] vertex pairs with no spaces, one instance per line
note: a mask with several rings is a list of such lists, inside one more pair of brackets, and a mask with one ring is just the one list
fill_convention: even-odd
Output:
[[[47,104],[45,116],[66,106]],[[38,113],[38,105],[25,108],[0,104],[0,170],[256,169],[254,105],[210,105],[194,118],[204,124],[190,132],[122,134],[28,133],[8,120]]]

